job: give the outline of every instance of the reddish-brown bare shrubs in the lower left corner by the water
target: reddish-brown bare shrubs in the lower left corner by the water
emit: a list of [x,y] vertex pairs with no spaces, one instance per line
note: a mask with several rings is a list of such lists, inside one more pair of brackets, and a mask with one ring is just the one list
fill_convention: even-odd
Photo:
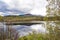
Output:
[[0,40],[18,40],[19,32],[17,30],[10,28],[9,26],[0,29]]

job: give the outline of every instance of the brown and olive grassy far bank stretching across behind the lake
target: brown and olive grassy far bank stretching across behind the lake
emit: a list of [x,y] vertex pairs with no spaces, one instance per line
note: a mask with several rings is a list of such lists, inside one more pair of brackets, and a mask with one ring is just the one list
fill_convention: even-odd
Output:
[[60,16],[56,17],[41,17],[41,16],[0,16],[0,21],[5,22],[26,22],[26,21],[60,21]]

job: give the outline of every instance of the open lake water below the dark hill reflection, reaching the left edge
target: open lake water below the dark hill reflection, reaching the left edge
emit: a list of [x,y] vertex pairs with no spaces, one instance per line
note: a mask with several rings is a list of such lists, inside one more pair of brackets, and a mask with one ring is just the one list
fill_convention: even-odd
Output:
[[32,33],[32,31],[36,31],[37,33],[45,33],[46,27],[45,22],[42,22],[43,24],[33,24],[30,26],[27,25],[5,25],[5,23],[0,22],[0,28],[4,28],[6,30],[6,27],[11,27],[16,29],[20,36],[28,35],[29,33]]

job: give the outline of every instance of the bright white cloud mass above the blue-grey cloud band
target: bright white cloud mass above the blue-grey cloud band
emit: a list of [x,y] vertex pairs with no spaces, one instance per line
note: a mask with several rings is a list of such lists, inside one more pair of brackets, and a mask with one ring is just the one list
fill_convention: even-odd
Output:
[[[7,9],[12,9],[12,10],[15,9],[27,13],[30,12],[31,14],[34,15],[43,15],[43,16],[46,15],[46,8],[45,8],[47,4],[46,0],[0,0],[0,1],[3,1],[8,5]],[[8,13],[10,14],[9,11]]]

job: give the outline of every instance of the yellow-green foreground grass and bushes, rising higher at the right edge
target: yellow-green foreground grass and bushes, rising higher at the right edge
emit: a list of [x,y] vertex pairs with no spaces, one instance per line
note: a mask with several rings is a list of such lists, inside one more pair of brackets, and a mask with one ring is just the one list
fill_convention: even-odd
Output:
[[55,27],[53,30],[53,27],[48,28],[48,33],[36,33],[33,32],[32,34],[29,34],[27,36],[20,37],[19,40],[60,40],[60,29],[59,27]]

